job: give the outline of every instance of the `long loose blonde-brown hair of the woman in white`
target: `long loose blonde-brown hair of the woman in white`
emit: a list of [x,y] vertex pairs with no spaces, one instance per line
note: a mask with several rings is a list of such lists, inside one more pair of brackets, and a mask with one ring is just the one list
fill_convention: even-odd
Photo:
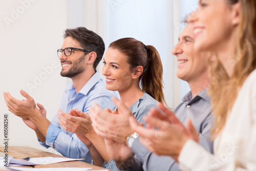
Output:
[[227,76],[225,68],[217,58],[210,67],[208,92],[215,115],[215,127],[212,130],[215,137],[222,131],[245,79],[256,69],[256,1],[226,1],[231,4],[241,2],[240,24],[237,30],[236,55],[230,61],[235,62],[232,76]]

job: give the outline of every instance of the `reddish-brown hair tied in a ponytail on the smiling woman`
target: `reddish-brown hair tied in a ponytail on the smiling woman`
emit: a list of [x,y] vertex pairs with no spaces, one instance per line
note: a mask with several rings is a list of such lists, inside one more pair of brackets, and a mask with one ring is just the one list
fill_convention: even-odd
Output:
[[121,38],[112,42],[109,48],[117,49],[126,55],[126,62],[133,71],[142,66],[143,73],[139,77],[142,91],[151,95],[159,102],[165,102],[163,95],[163,66],[156,48],[145,46],[135,38]]

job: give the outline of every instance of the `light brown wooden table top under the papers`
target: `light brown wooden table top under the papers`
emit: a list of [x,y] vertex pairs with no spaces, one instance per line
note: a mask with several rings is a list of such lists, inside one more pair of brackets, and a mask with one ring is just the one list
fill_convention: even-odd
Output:
[[[0,152],[4,153],[4,146],[0,146]],[[60,155],[56,155],[49,152],[41,151],[40,149],[28,147],[28,146],[9,146],[8,154],[13,156],[16,159],[23,159],[25,157],[63,157]],[[65,157],[64,157],[65,158]],[[35,165],[35,166],[19,166],[19,167],[92,167],[92,170],[100,170],[104,169],[102,167],[98,167],[92,164],[84,163],[81,161],[68,161],[61,163],[53,163],[53,164],[44,164],[44,165]]]

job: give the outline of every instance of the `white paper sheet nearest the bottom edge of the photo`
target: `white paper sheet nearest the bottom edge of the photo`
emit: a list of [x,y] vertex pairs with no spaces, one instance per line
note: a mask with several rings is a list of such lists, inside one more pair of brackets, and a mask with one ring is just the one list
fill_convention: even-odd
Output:
[[[46,168],[27,168],[27,167],[8,167],[11,170],[17,170],[17,171],[70,171],[70,170],[76,170],[76,171],[87,171],[90,169],[93,169],[92,167],[46,167]],[[102,169],[102,170],[93,170],[93,171],[108,171],[108,169]]]

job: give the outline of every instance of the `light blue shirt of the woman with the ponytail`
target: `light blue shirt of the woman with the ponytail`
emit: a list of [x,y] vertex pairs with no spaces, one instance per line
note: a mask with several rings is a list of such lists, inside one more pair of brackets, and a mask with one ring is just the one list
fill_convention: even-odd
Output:
[[[130,111],[132,111],[134,117],[139,123],[144,123],[143,116],[146,115],[151,108],[156,108],[156,104],[158,101],[148,95],[147,93],[144,93],[144,95],[137,100],[133,105],[129,108]],[[117,108],[115,108],[117,110]],[[129,121],[127,121],[129,122]],[[110,160],[108,164],[104,162],[103,167],[111,170],[117,170],[116,163],[114,160]]]

